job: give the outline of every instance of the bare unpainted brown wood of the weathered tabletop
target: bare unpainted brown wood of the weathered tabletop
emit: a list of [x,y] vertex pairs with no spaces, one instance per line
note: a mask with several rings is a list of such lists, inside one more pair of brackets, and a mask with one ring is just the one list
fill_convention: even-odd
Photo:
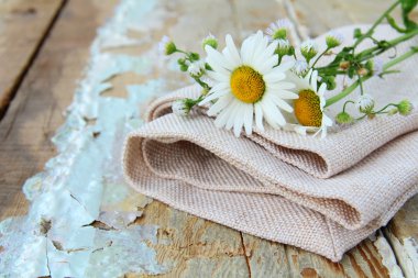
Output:
[[[371,23],[389,0],[212,0],[153,1],[165,21],[151,22],[153,32],[132,32],[141,47],[123,53],[141,55],[165,33],[185,48],[209,32],[218,37],[243,37],[264,30],[278,18],[295,23],[295,41],[329,29]],[[28,213],[24,181],[44,168],[57,151],[51,143],[65,122],[76,80],[89,58],[96,30],[113,13],[117,0],[3,0],[0,1],[0,220]],[[153,8],[154,9],[154,8]],[[155,8],[156,9],[156,8]],[[414,16],[418,15],[416,12]],[[158,16],[156,16],[158,19]],[[114,52],[110,49],[109,52]],[[176,76],[152,71],[125,73],[112,78],[107,96],[125,97],[127,84]],[[183,79],[182,82],[189,82]],[[167,85],[175,89],[178,84]],[[91,119],[90,119],[91,120]],[[94,121],[92,119],[91,121]],[[140,197],[139,197],[140,198]],[[261,240],[174,210],[158,201],[143,204],[132,224],[158,226],[156,260],[167,265],[158,277],[389,277],[402,269],[418,276],[418,197],[409,200],[391,223],[350,251],[339,263],[299,248]],[[99,225],[100,223],[98,223]],[[4,252],[0,246],[0,254]],[[168,264],[168,263],[169,264]],[[146,273],[125,277],[147,277]]]

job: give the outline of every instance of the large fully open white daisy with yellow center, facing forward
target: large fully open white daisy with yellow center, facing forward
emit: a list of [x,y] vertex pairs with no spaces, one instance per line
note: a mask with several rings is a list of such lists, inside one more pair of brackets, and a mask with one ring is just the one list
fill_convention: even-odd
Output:
[[235,136],[240,136],[242,127],[251,134],[254,120],[255,126],[262,131],[263,119],[274,129],[284,126],[286,120],[282,110],[293,112],[286,100],[298,98],[289,91],[295,85],[285,80],[286,71],[294,63],[276,66],[278,56],[274,51],[277,42],[268,44],[261,31],[248,37],[240,52],[231,35],[227,35],[226,42],[222,53],[205,47],[207,63],[212,68],[207,75],[215,85],[200,104],[211,103],[207,113],[217,118],[216,126],[233,127]]

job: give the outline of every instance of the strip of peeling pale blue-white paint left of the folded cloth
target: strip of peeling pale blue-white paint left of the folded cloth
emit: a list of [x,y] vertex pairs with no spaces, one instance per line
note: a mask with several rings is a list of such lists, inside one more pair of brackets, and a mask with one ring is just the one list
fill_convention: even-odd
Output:
[[[101,94],[112,88],[110,79],[117,75],[150,76],[154,46],[138,57],[106,49],[144,44],[151,38],[131,38],[128,31],[162,27],[165,16],[168,12],[156,0],[122,0],[98,31],[85,78],[52,140],[58,155],[24,184],[31,201],[28,215],[0,223],[1,277],[120,277],[167,270],[146,244],[156,243],[158,227],[132,224],[151,199],[112,210],[132,194],[121,174],[121,142],[142,124],[139,108],[164,91],[164,80],[129,85],[125,99]],[[90,225],[95,221],[110,230]]]

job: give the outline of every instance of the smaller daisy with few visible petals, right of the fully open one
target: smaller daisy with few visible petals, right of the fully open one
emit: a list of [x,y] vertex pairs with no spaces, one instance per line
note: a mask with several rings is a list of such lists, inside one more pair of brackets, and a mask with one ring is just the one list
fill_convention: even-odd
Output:
[[327,85],[321,84],[318,88],[318,71],[310,70],[301,79],[296,79],[296,91],[298,99],[294,100],[294,121],[288,123],[286,130],[293,130],[299,134],[306,135],[307,132],[316,132],[314,136],[321,133],[321,137],[327,136],[327,129],[332,126],[332,120],[324,113],[326,98],[324,92]]

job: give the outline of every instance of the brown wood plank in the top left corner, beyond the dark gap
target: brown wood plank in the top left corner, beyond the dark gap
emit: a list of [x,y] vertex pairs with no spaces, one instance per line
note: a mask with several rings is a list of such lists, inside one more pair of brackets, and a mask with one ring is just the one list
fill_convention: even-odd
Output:
[[0,119],[64,2],[64,0],[0,2]]

